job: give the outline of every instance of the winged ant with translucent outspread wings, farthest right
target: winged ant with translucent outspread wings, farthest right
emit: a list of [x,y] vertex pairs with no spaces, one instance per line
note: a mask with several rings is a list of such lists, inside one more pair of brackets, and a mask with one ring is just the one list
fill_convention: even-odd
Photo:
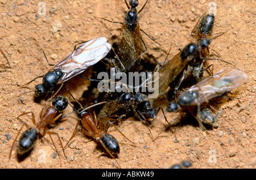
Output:
[[197,106],[196,120],[200,127],[203,128],[202,122],[213,124],[215,122],[212,111],[205,109],[200,111],[200,104],[209,102],[210,99],[219,97],[222,94],[236,89],[247,80],[244,72],[238,69],[226,69],[205,78],[196,85],[191,86],[188,90],[180,94],[177,102],[170,102],[167,106],[168,112],[176,112],[179,108]]

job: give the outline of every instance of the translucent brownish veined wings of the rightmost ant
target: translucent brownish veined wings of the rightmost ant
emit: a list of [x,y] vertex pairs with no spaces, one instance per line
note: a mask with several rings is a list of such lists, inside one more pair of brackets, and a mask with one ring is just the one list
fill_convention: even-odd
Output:
[[226,69],[212,77],[193,85],[188,91],[197,91],[199,95],[193,105],[209,101],[230,90],[236,89],[247,80],[247,75],[238,69]]

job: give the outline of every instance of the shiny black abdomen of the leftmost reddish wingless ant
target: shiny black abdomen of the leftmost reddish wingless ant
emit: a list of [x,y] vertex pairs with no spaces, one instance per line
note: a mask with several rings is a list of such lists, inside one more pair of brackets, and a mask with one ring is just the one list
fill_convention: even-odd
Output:
[[18,153],[24,154],[29,152],[39,138],[39,130],[36,128],[28,128],[22,133],[19,139]]

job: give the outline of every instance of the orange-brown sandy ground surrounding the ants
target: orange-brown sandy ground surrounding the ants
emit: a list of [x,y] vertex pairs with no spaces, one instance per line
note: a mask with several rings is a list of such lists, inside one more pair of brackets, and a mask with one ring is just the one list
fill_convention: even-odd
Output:
[[[0,41],[1,49],[10,61],[1,55],[0,72],[0,168],[119,168],[115,160],[104,150],[98,149],[93,139],[82,133],[72,140],[63,152],[56,156],[49,136],[38,140],[30,156],[18,161],[17,143],[9,161],[11,145],[22,122],[16,119],[24,112],[33,111],[39,121],[43,104],[34,101],[33,93],[20,96],[21,93],[34,90],[42,80],[37,79],[21,87],[36,76],[45,74],[50,66],[47,64],[42,49],[51,64],[55,64],[81,41],[105,36],[110,43],[118,42],[121,24],[96,19],[99,16],[115,22],[122,22],[127,11],[121,0],[80,0],[80,1],[0,1]],[[139,1],[140,9],[145,1]],[[139,120],[129,118],[118,124],[118,128],[135,145],[127,141],[113,127],[109,129],[119,142],[121,152],[116,159],[122,168],[166,169],[181,161],[188,160],[191,168],[255,168],[255,1],[214,1],[217,5],[214,32],[227,31],[213,40],[211,52],[242,68],[249,77],[242,86],[209,104],[213,106],[220,118],[219,126],[201,131],[192,123],[181,123],[164,131],[152,141],[148,129]],[[40,5],[40,6],[39,6]],[[42,5],[45,5],[44,14]],[[174,56],[186,44],[193,41],[190,33],[199,17],[208,10],[209,1],[169,1],[150,0],[139,14],[142,30],[155,38],[168,49],[172,44],[169,57]],[[166,53],[158,44],[143,35],[148,53],[154,60],[163,62]],[[214,72],[230,67],[220,61],[211,61]],[[6,70],[6,71],[5,71]],[[207,76],[207,74],[206,74]],[[80,77],[69,81],[71,93],[79,99],[87,89],[89,81]],[[60,93],[68,95],[63,89]],[[243,100],[239,100],[237,97]],[[71,112],[71,107],[64,114]],[[167,113],[168,120],[176,114]],[[23,116],[24,122],[31,126],[31,116]],[[51,131],[57,132],[66,144],[71,137],[77,120],[66,118]],[[152,126],[153,136],[164,130],[162,113]],[[24,131],[25,129],[23,129]],[[60,150],[59,141],[54,137]],[[46,158],[44,158],[46,157]]]

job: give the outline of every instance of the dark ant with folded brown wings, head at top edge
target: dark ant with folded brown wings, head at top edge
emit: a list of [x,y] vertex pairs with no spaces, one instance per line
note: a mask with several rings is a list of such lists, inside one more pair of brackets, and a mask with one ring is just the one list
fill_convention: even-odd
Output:
[[[122,69],[124,66],[127,72],[137,72],[140,69],[141,58],[138,57],[141,55],[141,42],[144,44],[144,41],[141,37],[141,32],[143,32],[145,35],[147,34],[139,26],[138,14],[142,12],[147,2],[148,0],[144,3],[142,8],[137,11],[136,8],[139,5],[138,0],[130,0],[129,3],[125,0],[125,4],[129,11],[126,12],[125,20],[122,23],[112,22],[108,19],[101,18],[107,20],[108,22],[122,24],[119,44],[117,47],[117,55],[120,59],[120,62],[117,61],[116,64],[119,69]],[[160,45],[152,37],[149,35],[147,36],[156,44]],[[160,46],[162,47],[162,45]],[[134,60],[136,60],[135,63]],[[133,65],[130,68],[126,68],[131,64]]]

